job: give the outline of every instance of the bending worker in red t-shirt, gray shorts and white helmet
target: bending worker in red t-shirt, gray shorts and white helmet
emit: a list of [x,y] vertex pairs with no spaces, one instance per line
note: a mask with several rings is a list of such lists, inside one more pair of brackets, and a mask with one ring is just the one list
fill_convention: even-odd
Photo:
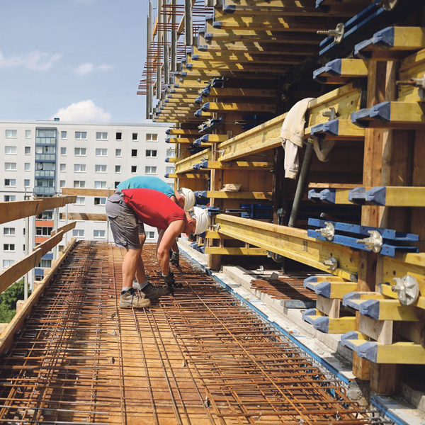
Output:
[[[169,269],[171,245],[181,232],[200,234],[210,224],[207,210],[194,207],[191,212],[185,212],[164,193],[142,188],[115,191],[106,202],[106,215],[111,223],[115,245],[127,250],[123,260],[123,291],[120,295],[120,307],[123,308],[149,307],[151,301],[173,292],[174,275]],[[146,280],[140,257],[139,222],[164,229],[157,259],[165,288],[154,287]],[[132,287],[135,276],[137,281],[144,282],[139,293]]]

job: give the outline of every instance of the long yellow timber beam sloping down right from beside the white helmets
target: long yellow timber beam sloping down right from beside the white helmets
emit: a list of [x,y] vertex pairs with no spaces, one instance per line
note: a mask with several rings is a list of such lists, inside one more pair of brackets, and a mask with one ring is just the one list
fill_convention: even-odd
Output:
[[338,261],[338,268],[330,273],[341,278],[350,279],[353,273],[358,273],[358,251],[308,237],[307,230],[224,214],[217,215],[215,222],[219,226],[220,234],[259,246],[322,271],[329,272],[324,261],[333,256]]

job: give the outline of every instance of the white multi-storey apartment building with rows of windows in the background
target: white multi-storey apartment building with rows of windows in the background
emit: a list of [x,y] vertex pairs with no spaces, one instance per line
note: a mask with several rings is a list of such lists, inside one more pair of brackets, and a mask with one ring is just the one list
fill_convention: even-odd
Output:
[[[166,145],[169,125],[88,124],[54,121],[0,121],[0,201],[55,196],[62,188],[115,188],[131,176],[158,176],[171,186],[164,174],[174,172],[174,145]],[[106,197],[79,196],[67,212],[105,213]],[[64,224],[60,210],[58,225]],[[0,225],[0,266],[10,266],[29,249],[50,236],[53,211],[44,211],[26,223],[16,220]],[[147,240],[156,241],[157,232],[146,227]],[[70,237],[71,235],[69,235]],[[78,239],[112,241],[105,221],[78,221],[72,236]],[[69,238],[68,238],[69,239]],[[65,241],[64,241],[65,242]],[[63,248],[64,242],[59,249]],[[43,256],[35,268],[35,280],[50,267],[53,253]]]

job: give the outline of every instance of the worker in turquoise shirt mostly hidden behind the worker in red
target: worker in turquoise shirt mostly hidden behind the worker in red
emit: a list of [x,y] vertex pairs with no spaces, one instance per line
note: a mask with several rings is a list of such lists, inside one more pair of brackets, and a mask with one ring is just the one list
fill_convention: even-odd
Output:
[[[159,191],[165,193],[171,200],[179,205],[183,210],[191,210],[193,205],[195,205],[195,194],[191,189],[188,188],[180,188],[178,191],[174,191],[165,181],[159,179],[159,177],[154,176],[135,176],[122,181],[118,186],[118,190],[122,189],[152,189],[153,191]],[[140,240],[140,248],[143,248],[143,244],[145,244],[146,234],[145,234],[145,226],[142,222],[138,224],[139,228],[139,240]],[[164,232],[164,230],[162,230]],[[161,230],[158,229],[159,239],[162,237]],[[174,241],[171,246],[171,259],[170,262],[176,267],[179,267],[179,246],[177,246],[177,242]],[[145,267],[143,266],[144,270]],[[145,281],[142,283],[138,283],[135,281],[134,288],[140,290],[141,286],[145,284]]]

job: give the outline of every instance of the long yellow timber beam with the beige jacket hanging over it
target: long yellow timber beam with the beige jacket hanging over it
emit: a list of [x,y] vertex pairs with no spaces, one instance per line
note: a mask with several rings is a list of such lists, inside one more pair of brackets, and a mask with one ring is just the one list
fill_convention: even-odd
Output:
[[[310,101],[307,108],[307,127],[327,121],[322,113],[329,108],[335,108],[341,118],[348,118],[351,112],[358,109],[360,97],[361,89],[350,83]],[[286,113],[220,143],[217,151],[223,153],[218,159],[223,162],[232,161],[280,146],[280,129],[285,117]]]

